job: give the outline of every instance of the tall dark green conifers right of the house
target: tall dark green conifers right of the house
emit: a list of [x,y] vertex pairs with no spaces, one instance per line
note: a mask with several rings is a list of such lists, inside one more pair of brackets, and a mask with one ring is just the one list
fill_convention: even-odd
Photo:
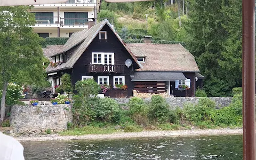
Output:
[[190,0],[186,46],[211,97],[230,96],[242,86],[242,1]]

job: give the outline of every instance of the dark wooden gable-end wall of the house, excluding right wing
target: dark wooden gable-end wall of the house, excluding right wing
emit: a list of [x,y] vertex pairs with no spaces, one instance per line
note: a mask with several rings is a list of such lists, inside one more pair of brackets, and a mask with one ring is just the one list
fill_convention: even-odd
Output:
[[[105,25],[102,30],[107,31],[107,39],[100,40],[99,34],[93,39],[92,43],[89,45],[89,47],[87,47],[85,52],[81,55],[81,57],[73,66],[72,84],[74,85],[77,81],[80,81],[82,79],[82,76],[93,76],[96,82],[98,82],[98,76],[109,76],[109,84],[113,87],[113,77],[124,76],[125,84],[128,87],[127,91],[111,89],[109,92],[105,93],[105,95],[110,97],[120,97],[121,95],[118,96],[118,92],[127,92],[127,96],[130,97],[132,96],[132,90],[134,88],[134,83],[131,81],[130,75],[132,75],[134,73],[134,70],[139,68],[139,66],[107,25]],[[93,68],[93,65],[91,65],[92,52],[114,53],[114,70],[109,70],[109,68],[106,67],[107,65],[96,65],[99,67]],[[125,61],[127,59],[132,60],[132,66],[130,66],[129,68],[125,66]],[[106,71],[104,71],[104,69]]]

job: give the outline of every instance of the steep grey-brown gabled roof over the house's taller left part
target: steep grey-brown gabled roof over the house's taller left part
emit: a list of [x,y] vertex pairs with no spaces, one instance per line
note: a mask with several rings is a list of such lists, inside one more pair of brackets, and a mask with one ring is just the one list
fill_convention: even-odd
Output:
[[[140,68],[142,68],[142,65],[140,64],[140,62],[137,60],[137,58],[135,57],[135,55],[133,55],[133,53],[131,52],[131,50],[129,49],[129,47],[126,46],[126,44],[122,41],[121,37],[116,33],[116,31],[114,30],[114,28],[111,26],[111,24],[109,23],[109,21],[107,19],[93,25],[90,29],[84,29],[81,31],[78,31],[74,34],[71,35],[71,37],[68,39],[68,41],[66,42],[66,44],[63,46],[63,49],[61,49],[58,53],[55,53],[52,55],[58,55],[61,54],[63,52],[66,52],[70,49],[73,49],[75,46],[78,46],[77,49],[75,49],[73,51],[73,53],[71,54],[70,58],[67,60],[66,63],[62,63],[61,65],[58,65],[57,67],[53,68],[48,66],[46,68],[46,72],[47,73],[51,73],[53,71],[58,71],[58,70],[63,70],[63,69],[69,69],[72,68],[76,61],[81,57],[81,55],[84,53],[84,51],[86,50],[86,48],[91,44],[91,42],[93,41],[93,39],[95,38],[95,36],[97,36],[100,32],[100,30],[105,26],[108,25],[109,28],[113,31],[113,33],[116,35],[116,37],[119,39],[119,41],[123,44],[123,46],[125,47],[125,49],[129,52],[129,54],[131,55],[131,57],[133,58],[133,60],[138,64],[138,66]],[[82,40],[81,40],[82,39]]]

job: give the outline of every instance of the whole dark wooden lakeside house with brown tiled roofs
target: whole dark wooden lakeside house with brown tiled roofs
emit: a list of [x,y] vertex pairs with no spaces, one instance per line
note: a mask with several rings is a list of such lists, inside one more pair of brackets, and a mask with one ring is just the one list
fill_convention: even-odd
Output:
[[[168,93],[174,97],[194,97],[203,78],[194,56],[181,44],[153,44],[151,36],[144,43],[124,43],[108,20],[72,34],[65,45],[47,46],[44,54],[52,62],[47,77],[55,87],[64,73],[71,83],[93,78],[111,86],[108,97],[130,97],[139,93]],[[126,84],[120,90],[115,84]]]

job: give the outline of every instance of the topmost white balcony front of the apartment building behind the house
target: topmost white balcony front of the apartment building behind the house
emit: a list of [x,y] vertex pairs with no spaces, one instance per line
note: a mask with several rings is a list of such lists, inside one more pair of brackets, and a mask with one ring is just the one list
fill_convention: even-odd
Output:
[[60,7],[61,9],[69,9],[74,7],[96,7],[97,0],[68,0],[66,3],[57,4],[39,4],[34,5],[35,9],[45,8],[45,7]]

